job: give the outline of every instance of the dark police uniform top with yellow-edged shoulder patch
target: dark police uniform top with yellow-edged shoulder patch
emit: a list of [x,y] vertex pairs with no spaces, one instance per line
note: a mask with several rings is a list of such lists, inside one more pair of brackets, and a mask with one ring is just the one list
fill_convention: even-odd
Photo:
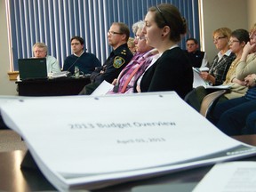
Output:
[[[113,82],[122,69],[132,60],[133,54],[127,44],[122,44],[112,51],[103,66],[92,72],[91,81],[101,83],[104,80],[109,84]],[[101,73],[100,73],[101,71]]]

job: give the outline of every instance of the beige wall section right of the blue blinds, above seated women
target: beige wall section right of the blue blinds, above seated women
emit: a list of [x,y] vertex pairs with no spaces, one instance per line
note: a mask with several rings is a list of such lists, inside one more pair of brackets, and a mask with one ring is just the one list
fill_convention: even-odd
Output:
[[212,42],[212,32],[215,29],[223,27],[231,30],[249,29],[247,3],[244,0],[203,0],[204,45],[210,63],[218,52]]

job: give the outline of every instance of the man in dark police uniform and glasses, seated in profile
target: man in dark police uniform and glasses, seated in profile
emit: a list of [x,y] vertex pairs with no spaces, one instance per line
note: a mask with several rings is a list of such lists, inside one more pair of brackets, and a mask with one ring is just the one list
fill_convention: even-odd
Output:
[[84,86],[80,94],[91,94],[104,80],[109,84],[119,75],[122,69],[132,60],[132,52],[127,42],[130,30],[122,22],[114,22],[108,31],[108,44],[113,47],[102,67],[92,72],[91,84]]

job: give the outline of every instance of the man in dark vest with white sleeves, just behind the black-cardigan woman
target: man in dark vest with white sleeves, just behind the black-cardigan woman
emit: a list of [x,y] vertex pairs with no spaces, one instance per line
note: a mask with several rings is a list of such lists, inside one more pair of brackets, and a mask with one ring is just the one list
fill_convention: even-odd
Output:
[[203,68],[208,65],[208,60],[206,60],[206,52],[201,52],[198,50],[198,42],[195,38],[188,38],[186,41],[187,50],[185,53],[194,68]]

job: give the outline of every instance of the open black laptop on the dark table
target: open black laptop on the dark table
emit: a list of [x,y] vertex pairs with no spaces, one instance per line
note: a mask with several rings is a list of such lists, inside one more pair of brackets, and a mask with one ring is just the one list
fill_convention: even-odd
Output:
[[18,60],[20,80],[47,78],[46,58]]

